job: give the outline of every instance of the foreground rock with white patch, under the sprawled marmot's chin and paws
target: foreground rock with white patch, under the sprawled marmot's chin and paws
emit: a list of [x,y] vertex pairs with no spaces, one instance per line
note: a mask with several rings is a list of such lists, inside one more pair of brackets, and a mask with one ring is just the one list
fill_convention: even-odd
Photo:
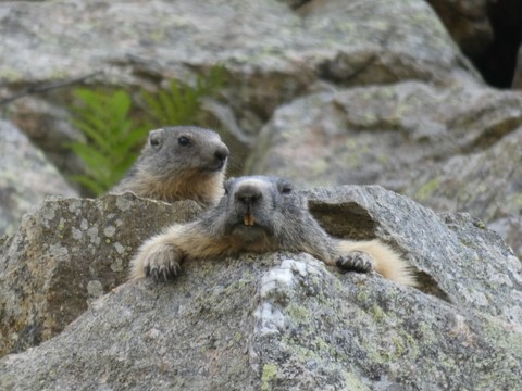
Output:
[[187,264],[126,283],[0,361],[2,389],[517,389],[520,328],[308,255]]

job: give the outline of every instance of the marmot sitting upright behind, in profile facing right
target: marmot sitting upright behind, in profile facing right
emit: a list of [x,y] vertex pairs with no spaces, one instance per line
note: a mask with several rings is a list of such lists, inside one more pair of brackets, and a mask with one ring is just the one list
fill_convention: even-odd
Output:
[[110,192],[215,205],[223,195],[228,154],[213,130],[187,126],[151,130],[138,160]]

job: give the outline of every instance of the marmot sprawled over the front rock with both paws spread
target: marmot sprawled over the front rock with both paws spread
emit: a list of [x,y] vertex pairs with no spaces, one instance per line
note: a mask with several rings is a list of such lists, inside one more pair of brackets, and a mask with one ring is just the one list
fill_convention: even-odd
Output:
[[378,240],[331,237],[289,181],[265,176],[231,178],[219,205],[199,220],[173,225],[146,241],[132,261],[132,278],[169,279],[182,261],[287,250],[306,252],[344,270],[372,272],[414,286],[409,265]]

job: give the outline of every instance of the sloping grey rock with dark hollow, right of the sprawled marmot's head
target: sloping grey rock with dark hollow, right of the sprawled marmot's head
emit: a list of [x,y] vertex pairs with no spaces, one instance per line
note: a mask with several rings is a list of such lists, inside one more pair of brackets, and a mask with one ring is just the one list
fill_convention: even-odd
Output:
[[481,220],[438,215],[380,186],[320,188],[309,199],[311,211],[333,235],[365,232],[406,254],[426,292],[522,324],[522,265]]

